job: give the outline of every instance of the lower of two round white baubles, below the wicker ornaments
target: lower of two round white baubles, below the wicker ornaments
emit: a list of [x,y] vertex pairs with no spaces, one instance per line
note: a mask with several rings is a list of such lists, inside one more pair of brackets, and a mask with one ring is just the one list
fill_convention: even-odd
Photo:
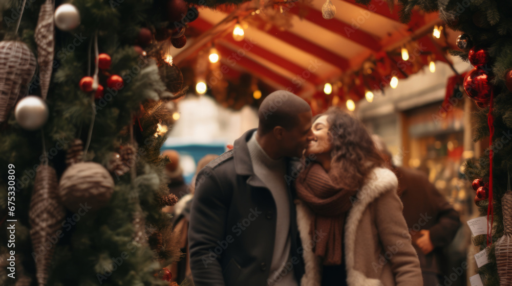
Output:
[[48,106],[40,97],[28,96],[16,104],[14,116],[24,129],[37,130],[48,120]]

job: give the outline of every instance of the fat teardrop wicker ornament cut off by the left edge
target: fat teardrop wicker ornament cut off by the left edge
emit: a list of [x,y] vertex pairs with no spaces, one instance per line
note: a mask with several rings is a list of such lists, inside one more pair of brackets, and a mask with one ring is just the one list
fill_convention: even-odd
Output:
[[24,42],[0,42],[0,122],[9,117],[18,97],[27,94],[35,68],[35,56]]

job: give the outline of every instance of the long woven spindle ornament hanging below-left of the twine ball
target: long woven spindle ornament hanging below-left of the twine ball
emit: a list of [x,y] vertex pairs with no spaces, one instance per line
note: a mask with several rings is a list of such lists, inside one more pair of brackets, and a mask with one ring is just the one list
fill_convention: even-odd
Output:
[[59,201],[57,187],[55,170],[51,166],[40,165],[35,176],[29,210],[30,237],[39,285],[46,285],[50,261],[58,242],[56,232],[66,216],[66,210]]

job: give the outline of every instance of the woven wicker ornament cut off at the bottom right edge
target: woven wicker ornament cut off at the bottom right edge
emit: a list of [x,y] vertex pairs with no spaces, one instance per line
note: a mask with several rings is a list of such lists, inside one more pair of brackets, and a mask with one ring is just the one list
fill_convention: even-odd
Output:
[[496,242],[495,254],[500,286],[512,285],[512,192],[507,190],[501,199],[505,234]]

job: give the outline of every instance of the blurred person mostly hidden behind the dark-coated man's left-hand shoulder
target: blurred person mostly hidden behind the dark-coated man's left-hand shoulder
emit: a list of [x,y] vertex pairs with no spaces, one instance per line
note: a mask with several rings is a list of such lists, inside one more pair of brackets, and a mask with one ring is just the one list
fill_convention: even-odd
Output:
[[170,273],[173,274],[173,280],[178,284],[181,284],[183,280],[187,279],[190,284],[189,286],[194,286],[194,282],[192,281],[192,274],[190,272],[190,257],[188,253],[188,224],[190,222],[190,205],[192,203],[192,198],[194,196],[194,186],[196,181],[196,176],[204,168],[209,162],[213,161],[219,155],[208,154],[201,158],[197,163],[196,174],[192,178],[192,183],[190,185],[190,194],[183,196],[178,203],[174,206],[174,221],[173,221],[173,231],[178,232],[180,234],[180,248],[181,252],[185,254],[179,261],[173,263],[170,267]]

